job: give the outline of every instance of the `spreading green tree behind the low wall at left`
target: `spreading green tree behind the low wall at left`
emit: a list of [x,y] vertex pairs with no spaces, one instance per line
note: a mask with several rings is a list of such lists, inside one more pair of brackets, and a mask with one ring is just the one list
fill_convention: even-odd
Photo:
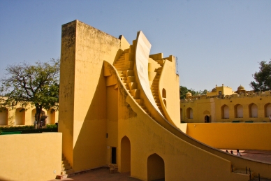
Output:
[[58,108],[59,62],[59,59],[51,59],[34,65],[27,62],[8,65],[6,77],[0,80],[1,108],[20,105],[27,109],[31,104],[36,107],[35,120],[40,124],[43,108]]

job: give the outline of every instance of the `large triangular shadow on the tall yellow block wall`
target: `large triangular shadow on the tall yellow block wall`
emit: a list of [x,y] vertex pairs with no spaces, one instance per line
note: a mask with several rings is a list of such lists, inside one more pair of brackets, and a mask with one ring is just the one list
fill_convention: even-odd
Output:
[[89,110],[82,122],[80,130],[77,130],[79,135],[73,149],[75,171],[106,164],[106,85],[103,68]]

